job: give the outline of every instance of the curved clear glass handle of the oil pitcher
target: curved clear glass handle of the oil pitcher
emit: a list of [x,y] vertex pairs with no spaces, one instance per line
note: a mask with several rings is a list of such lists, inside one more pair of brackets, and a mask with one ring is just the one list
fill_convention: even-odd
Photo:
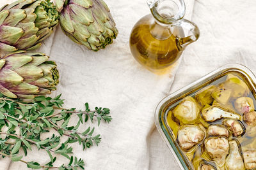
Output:
[[177,20],[177,22],[174,22],[172,26],[180,26],[183,29],[186,29],[191,32],[191,35],[186,36],[184,38],[178,38],[177,45],[180,47],[180,50],[184,50],[186,46],[189,44],[195,42],[199,36],[200,36],[200,31],[197,27],[197,25],[189,20],[186,20],[182,18],[181,20]]

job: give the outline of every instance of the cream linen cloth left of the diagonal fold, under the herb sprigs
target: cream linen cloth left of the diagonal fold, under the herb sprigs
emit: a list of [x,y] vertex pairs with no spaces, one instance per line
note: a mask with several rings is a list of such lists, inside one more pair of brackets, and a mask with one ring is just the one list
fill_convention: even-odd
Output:
[[[10,1],[1,1],[1,5]],[[62,94],[66,108],[83,109],[84,103],[111,109],[113,121],[96,127],[101,134],[99,146],[83,151],[72,144],[74,155],[84,159],[86,169],[149,169],[149,135],[154,129],[154,110],[157,103],[168,94],[179,62],[170,73],[158,76],[140,66],[131,55],[129,35],[136,22],[150,13],[146,1],[106,0],[118,28],[118,37],[112,45],[99,52],[87,50],[72,42],[58,27],[51,38],[44,41],[37,52],[45,52],[55,60],[60,71],[60,84],[52,96]],[[186,1],[187,15],[193,11],[193,1]],[[76,125],[77,120],[70,120]],[[90,125],[90,124],[89,124]],[[81,125],[81,131],[88,124]],[[45,138],[45,134],[43,135]],[[49,162],[44,150],[33,146],[26,161],[40,164]],[[58,155],[56,165],[68,163]],[[4,164],[4,161],[5,164]],[[54,163],[54,164],[55,164]],[[28,169],[22,162],[3,160],[0,169]]]

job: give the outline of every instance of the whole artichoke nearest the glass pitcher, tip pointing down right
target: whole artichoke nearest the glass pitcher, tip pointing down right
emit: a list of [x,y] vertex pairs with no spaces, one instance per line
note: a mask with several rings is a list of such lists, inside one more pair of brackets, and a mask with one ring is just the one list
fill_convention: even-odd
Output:
[[102,0],[56,0],[56,8],[61,11],[63,32],[90,50],[105,48],[118,34],[109,8]]

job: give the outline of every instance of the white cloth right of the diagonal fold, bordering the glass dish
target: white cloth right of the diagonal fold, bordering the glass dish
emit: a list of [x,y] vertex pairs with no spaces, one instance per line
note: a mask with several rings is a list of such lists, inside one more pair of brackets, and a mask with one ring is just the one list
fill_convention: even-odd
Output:
[[[205,74],[238,63],[256,73],[256,1],[196,0],[191,20],[200,38],[186,48],[170,93]],[[179,169],[156,129],[150,134],[150,169]]]

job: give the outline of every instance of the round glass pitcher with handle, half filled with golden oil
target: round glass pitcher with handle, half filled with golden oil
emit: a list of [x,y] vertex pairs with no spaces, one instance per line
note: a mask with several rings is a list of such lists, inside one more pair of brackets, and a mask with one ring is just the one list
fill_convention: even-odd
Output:
[[[183,18],[183,0],[148,0],[147,4],[152,15],[134,25],[130,48],[140,64],[154,73],[164,73],[200,33],[193,22]],[[184,30],[188,30],[188,36],[184,36]]]

